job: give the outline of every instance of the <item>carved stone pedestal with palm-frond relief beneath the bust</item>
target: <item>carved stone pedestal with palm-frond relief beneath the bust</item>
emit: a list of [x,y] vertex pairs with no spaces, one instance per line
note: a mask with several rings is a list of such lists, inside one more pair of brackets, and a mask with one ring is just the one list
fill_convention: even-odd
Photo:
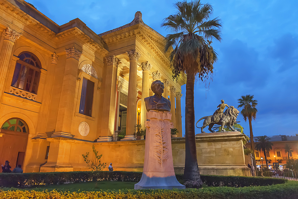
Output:
[[185,189],[175,176],[172,156],[169,111],[147,113],[145,160],[141,180],[134,189]]

